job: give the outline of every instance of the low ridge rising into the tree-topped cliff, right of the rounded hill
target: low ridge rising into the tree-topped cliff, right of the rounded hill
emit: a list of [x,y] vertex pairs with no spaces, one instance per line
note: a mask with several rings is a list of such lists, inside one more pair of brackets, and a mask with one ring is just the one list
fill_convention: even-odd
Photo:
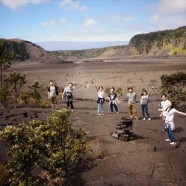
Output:
[[121,59],[132,56],[186,56],[186,26],[175,30],[135,35],[129,45],[55,52],[70,60]]

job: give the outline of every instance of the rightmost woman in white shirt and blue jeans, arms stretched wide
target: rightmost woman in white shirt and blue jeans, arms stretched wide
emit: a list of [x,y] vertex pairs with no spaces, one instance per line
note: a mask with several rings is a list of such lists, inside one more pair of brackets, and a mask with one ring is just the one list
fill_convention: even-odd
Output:
[[[162,109],[159,109],[159,111],[162,112]],[[180,111],[176,110],[174,108],[174,103],[172,102],[171,105],[165,111],[165,114],[166,114],[165,123],[166,123],[167,134],[168,134],[168,139],[166,139],[166,141],[170,142],[171,145],[176,144],[176,137],[173,133],[173,131],[175,129],[175,125],[174,125],[174,114],[175,113],[186,116],[186,113],[183,113],[183,112],[180,112]]]

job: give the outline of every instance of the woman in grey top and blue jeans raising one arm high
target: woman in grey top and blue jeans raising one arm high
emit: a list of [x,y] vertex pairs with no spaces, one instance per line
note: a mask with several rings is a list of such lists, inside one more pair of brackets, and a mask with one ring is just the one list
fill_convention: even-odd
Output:
[[143,90],[141,94],[140,105],[141,105],[143,120],[146,119],[145,115],[147,115],[149,121],[151,120],[149,112],[148,112],[148,101],[149,101],[149,97],[151,95],[153,88],[154,86],[150,89],[149,93],[147,93],[146,90]]

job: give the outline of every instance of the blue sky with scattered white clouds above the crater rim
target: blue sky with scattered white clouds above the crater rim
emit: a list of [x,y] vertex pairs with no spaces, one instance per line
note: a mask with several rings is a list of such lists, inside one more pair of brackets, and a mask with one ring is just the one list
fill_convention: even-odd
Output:
[[0,38],[129,41],[186,25],[186,0],[0,0]]

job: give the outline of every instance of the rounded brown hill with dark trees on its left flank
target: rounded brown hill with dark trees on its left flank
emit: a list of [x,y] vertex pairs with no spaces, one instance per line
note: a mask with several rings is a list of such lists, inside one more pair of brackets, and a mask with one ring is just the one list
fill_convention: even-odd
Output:
[[4,51],[13,54],[14,61],[39,61],[46,63],[58,62],[59,58],[53,56],[50,52],[45,51],[40,46],[20,39],[0,39],[0,43],[4,46]]

